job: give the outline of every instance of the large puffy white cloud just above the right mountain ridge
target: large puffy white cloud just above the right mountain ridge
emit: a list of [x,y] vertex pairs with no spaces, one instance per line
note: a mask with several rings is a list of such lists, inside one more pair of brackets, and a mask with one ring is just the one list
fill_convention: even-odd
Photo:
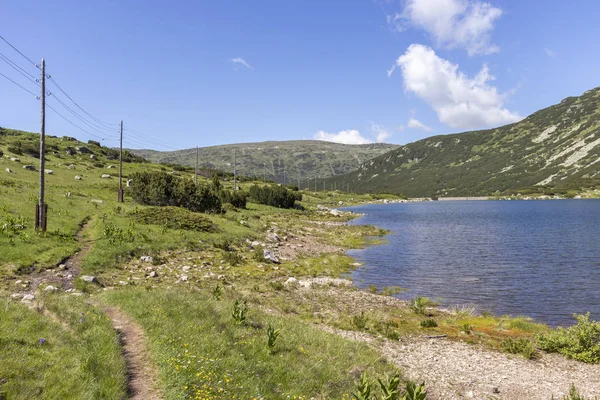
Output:
[[402,69],[405,90],[427,102],[452,128],[491,127],[522,119],[504,107],[507,95],[489,84],[494,77],[487,65],[469,78],[457,64],[420,44],[410,45],[395,65]]

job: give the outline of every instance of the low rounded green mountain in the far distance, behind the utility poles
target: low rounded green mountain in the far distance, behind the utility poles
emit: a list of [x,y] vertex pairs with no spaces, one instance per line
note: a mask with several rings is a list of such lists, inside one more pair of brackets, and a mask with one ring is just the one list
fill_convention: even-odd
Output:
[[[234,152],[237,170],[246,176],[297,183],[314,177],[328,177],[356,170],[361,164],[398,147],[393,144],[347,145],[318,140],[272,141],[201,147],[199,165],[233,172]],[[145,159],[164,164],[193,166],[196,149],[178,151],[129,150]]]

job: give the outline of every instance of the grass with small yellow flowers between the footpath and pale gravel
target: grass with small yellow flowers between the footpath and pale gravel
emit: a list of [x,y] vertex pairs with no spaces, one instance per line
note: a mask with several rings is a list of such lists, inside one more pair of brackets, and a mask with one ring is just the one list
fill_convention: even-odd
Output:
[[[198,292],[128,289],[102,298],[144,328],[166,399],[341,399],[349,398],[362,371],[391,371],[364,344],[252,305],[238,325],[231,315],[233,296],[225,291],[216,301]],[[273,349],[269,325],[280,329]]]

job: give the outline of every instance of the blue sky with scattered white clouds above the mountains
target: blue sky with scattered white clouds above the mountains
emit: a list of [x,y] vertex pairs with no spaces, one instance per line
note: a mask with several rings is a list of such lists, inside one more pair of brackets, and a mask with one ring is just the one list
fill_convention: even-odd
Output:
[[[31,0],[0,2],[0,35],[45,57],[96,118],[123,119],[128,147],[403,144],[504,125],[598,86],[599,14],[591,0]],[[39,74],[2,41],[0,54]],[[0,73],[39,90],[2,60]],[[118,144],[48,90],[57,111]],[[0,126],[39,131],[39,102],[2,76]],[[52,111],[47,132],[97,139]]]

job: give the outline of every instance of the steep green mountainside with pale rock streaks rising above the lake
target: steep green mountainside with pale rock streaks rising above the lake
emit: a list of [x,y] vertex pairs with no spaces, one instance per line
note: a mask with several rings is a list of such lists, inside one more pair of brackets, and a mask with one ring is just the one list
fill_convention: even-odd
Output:
[[400,146],[334,181],[411,197],[600,187],[600,88],[515,124]]

